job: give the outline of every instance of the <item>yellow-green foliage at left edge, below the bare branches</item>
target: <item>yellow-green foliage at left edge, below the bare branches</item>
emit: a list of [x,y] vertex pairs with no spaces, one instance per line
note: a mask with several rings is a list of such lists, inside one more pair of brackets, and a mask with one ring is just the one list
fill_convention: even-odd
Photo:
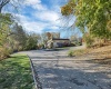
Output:
[[9,13],[0,13],[0,59],[8,57],[10,26],[13,23],[12,16]]

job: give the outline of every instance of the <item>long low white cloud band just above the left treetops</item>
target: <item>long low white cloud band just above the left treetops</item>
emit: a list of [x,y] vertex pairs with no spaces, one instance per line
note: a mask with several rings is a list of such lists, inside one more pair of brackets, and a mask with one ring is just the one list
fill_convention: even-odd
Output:
[[41,33],[43,31],[57,31],[59,29],[58,26],[52,24],[51,22],[42,22],[42,21],[31,21],[31,18],[16,14],[18,19],[20,19],[19,23],[27,30],[28,32],[38,32]]

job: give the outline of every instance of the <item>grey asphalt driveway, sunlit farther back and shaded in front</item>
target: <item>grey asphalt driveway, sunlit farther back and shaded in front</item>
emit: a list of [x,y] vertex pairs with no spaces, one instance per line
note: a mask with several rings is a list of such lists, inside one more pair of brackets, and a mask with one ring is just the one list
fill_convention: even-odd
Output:
[[111,68],[89,58],[69,58],[65,50],[26,51],[38,72],[42,89],[111,89]]

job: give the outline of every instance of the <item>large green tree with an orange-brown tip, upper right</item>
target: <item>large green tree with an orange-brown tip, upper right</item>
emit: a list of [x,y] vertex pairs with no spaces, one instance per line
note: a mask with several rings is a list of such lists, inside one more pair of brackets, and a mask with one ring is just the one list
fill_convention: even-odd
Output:
[[69,0],[62,16],[75,16],[75,27],[101,39],[111,38],[111,0]]

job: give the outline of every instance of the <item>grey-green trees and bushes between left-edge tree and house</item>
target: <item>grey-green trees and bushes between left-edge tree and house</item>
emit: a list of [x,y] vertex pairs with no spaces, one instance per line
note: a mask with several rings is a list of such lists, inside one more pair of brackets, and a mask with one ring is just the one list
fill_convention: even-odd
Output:
[[11,43],[14,51],[37,49],[39,34],[27,33],[21,26],[16,23],[12,29]]

